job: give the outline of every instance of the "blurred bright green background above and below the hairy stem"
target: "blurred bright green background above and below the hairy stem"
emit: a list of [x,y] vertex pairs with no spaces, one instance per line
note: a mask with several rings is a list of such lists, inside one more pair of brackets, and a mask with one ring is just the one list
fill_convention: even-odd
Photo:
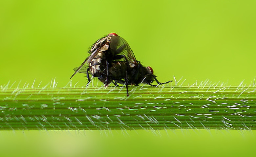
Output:
[[[186,79],[183,85],[206,79],[249,85],[256,75],[255,8],[253,0],[1,0],[0,85],[31,86],[35,79],[34,86],[45,86],[56,78],[65,86],[90,45],[111,32],[126,39],[160,81],[175,75]],[[73,85],[83,86],[84,76],[75,75]],[[24,156],[244,156],[254,153],[255,133],[0,132],[0,149]]]

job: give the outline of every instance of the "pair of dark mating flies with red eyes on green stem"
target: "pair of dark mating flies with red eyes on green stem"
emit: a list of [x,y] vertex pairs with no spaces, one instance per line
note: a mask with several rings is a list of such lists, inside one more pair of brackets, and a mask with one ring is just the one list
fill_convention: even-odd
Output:
[[155,80],[160,85],[172,82],[160,83],[157,76],[154,75],[153,69],[141,65],[136,60],[129,44],[116,33],[110,33],[106,37],[98,39],[88,53],[91,55],[84,60],[80,67],[74,69],[75,73],[71,78],[77,72],[86,73],[89,84],[91,82],[90,71],[105,86],[111,82],[114,85],[117,83],[126,85],[127,96],[129,95],[127,85],[139,86],[140,83],[144,83],[156,86],[151,84]]

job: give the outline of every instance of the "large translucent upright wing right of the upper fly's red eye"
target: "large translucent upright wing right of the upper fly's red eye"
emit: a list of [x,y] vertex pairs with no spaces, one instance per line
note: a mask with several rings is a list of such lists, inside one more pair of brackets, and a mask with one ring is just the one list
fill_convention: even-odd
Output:
[[[137,65],[137,60],[131,47],[122,37],[112,36],[110,41],[110,48],[114,55],[125,55],[131,67]],[[124,58],[118,60],[125,61]]]

